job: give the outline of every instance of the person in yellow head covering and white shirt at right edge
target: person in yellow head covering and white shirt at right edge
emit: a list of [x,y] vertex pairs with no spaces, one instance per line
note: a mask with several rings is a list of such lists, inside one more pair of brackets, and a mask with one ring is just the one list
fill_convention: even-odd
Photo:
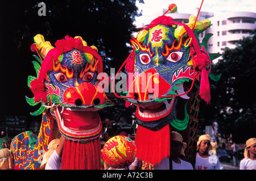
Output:
[[240,162],[240,170],[256,169],[256,138],[250,138],[246,141],[246,148],[243,158]]

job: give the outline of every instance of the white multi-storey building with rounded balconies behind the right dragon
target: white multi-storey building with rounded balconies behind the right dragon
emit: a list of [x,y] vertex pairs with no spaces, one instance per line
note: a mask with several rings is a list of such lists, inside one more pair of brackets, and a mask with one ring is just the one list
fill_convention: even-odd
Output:
[[208,18],[212,25],[206,33],[213,33],[208,41],[210,53],[222,53],[222,48],[236,48],[238,40],[250,36],[256,28],[256,13],[228,12]]

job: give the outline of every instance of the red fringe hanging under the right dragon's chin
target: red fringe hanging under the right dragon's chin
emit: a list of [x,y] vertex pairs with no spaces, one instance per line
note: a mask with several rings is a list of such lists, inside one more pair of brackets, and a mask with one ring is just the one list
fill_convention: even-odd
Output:
[[157,165],[170,156],[170,126],[166,125],[160,131],[150,131],[138,125],[135,144],[138,159]]

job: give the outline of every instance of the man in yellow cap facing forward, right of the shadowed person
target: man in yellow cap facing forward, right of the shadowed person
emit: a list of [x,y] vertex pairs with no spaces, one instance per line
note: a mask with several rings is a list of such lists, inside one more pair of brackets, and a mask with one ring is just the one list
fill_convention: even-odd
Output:
[[197,141],[196,170],[220,170],[218,157],[214,154],[209,154],[209,151],[213,149],[210,141],[209,134],[201,135]]

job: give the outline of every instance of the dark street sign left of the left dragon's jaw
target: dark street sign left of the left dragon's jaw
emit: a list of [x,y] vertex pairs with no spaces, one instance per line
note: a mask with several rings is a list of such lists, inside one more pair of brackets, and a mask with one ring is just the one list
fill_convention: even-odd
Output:
[[6,132],[24,132],[27,128],[26,116],[5,116],[5,129]]

